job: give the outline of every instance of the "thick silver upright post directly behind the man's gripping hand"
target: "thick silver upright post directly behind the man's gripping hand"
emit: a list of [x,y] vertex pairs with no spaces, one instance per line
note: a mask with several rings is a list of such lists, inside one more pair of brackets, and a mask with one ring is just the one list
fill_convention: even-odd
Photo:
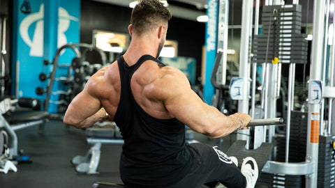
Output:
[[[253,17],[253,1],[244,0],[242,3],[242,21],[241,21],[241,45],[239,54],[239,77],[244,79],[244,93],[243,99],[239,100],[238,111],[248,113],[249,107],[249,88],[250,88],[250,63],[249,52],[250,52],[250,40],[251,40],[251,27],[252,22],[250,17]],[[239,130],[248,134],[248,130]],[[237,139],[247,140],[246,146],[248,146],[248,136],[245,134],[237,134]]]

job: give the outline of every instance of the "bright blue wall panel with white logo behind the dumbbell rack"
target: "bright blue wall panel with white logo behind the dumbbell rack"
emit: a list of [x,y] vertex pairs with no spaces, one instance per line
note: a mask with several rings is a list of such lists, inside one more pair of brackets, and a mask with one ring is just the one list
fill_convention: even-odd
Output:
[[[13,3],[12,95],[36,97],[44,102],[45,95],[36,95],[35,90],[38,87],[47,88],[48,82],[40,81],[38,76],[42,72],[49,75],[52,65],[43,65],[43,60],[52,61],[58,47],[80,41],[80,0],[30,1],[30,14],[20,12],[23,1]],[[54,17],[58,17],[58,20],[54,20]],[[59,63],[70,63],[73,56],[72,52],[64,52]],[[57,76],[64,75],[64,72],[60,71]],[[58,100],[57,97],[52,96],[52,100]],[[48,111],[57,112],[57,106],[50,105]]]

